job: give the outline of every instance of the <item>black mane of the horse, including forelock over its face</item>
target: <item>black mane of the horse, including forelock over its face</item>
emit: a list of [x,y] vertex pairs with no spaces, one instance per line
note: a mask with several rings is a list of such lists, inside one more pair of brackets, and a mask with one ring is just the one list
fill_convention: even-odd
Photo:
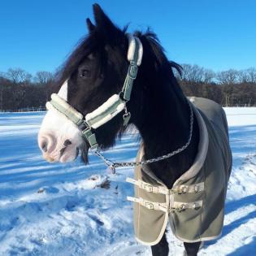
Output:
[[[122,33],[127,33],[128,25],[124,26]],[[155,70],[154,72],[161,72],[168,74],[169,79],[171,79],[172,83],[177,85],[176,78],[173,73],[173,68],[180,74],[182,73],[182,67],[173,62],[169,61],[166,57],[165,50],[163,46],[160,45],[158,37],[155,33],[153,33],[150,28],[147,28],[146,32],[143,33],[142,31],[136,31],[134,36],[139,37],[144,51],[148,52],[151,51],[151,58],[154,59],[155,63]],[[115,39],[114,39],[115,40]],[[67,80],[74,72],[76,72],[77,68],[79,67],[80,63],[82,63],[89,54],[96,52],[97,58],[97,70],[95,70],[95,74],[102,72],[102,68],[104,67],[104,63],[106,63],[106,55],[102,52],[99,52],[102,45],[102,41],[98,40],[97,31],[89,33],[87,36],[82,37],[80,41],[75,46],[75,50],[72,51],[71,54],[67,56],[67,59],[64,63],[57,69],[55,73],[55,85],[56,87],[60,87],[63,85],[63,82]],[[150,47],[147,47],[150,46]],[[148,48],[148,49],[145,49]],[[179,86],[178,86],[179,87]]]

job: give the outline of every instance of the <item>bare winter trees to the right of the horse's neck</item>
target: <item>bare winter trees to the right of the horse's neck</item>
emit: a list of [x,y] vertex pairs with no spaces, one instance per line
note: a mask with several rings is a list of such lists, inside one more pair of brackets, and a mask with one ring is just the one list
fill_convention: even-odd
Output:
[[182,65],[176,72],[185,95],[210,98],[222,106],[256,106],[256,68],[213,72],[197,65]]

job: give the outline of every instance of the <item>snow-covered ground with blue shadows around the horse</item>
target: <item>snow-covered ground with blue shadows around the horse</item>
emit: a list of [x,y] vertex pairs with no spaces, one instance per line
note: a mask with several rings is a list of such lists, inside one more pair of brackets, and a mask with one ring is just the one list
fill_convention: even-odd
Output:
[[[223,235],[199,255],[256,255],[256,108],[227,108],[233,153]],[[44,113],[0,113],[0,255],[147,256],[132,230],[132,169],[106,171],[46,163],[37,148]],[[138,136],[117,141],[106,156],[131,160]],[[170,255],[183,245],[168,234]]]

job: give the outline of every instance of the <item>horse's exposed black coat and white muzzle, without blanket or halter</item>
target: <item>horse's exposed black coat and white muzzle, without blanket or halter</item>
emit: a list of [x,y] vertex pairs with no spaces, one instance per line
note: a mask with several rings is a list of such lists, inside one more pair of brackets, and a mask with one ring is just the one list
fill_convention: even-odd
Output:
[[[58,92],[67,80],[67,102],[83,115],[121,91],[129,66],[127,28],[116,27],[97,4],[93,5],[93,12],[95,24],[86,20],[89,35],[80,41],[59,70],[58,83],[54,88]],[[131,113],[128,124],[137,127],[144,145],[144,157],[150,159],[185,145],[191,117],[188,100],[173,72],[173,68],[180,72],[180,66],[167,59],[158,38],[150,30],[145,33],[137,31],[133,35],[141,41],[143,58],[137,79],[134,80],[131,99],[127,102],[127,109]],[[163,180],[168,189],[191,167],[197,154],[200,134],[195,116],[193,120],[189,146],[180,154],[149,164],[150,170]],[[48,161],[67,162],[76,158],[77,149],[80,149],[84,162],[88,163],[88,141],[80,137],[79,130],[71,127],[72,124],[60,124],[60,121],[46,118],[42,124],[39,145],[45,158]],[[115,144],[115,137],[122,136],[127,128],[123,122],[123,113],[119,113],[94,130],[103,150]],[[46,124],[50,128],[47,129]],[[68,125],[71,128],[67,128]],[[184,242],[186,254],[197,255],[200,244],[200,241]],[[167,255],[166,236],[151,249],[154,256]]]

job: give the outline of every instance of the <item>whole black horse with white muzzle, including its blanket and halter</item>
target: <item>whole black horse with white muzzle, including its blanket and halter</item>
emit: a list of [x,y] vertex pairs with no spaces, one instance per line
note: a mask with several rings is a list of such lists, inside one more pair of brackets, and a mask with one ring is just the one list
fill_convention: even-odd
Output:
[[[192,103],[184,96],[174,75],[174,69],[181,72],[180,65],[167,59],[150,29],[128,34],[128,27],[121,29],[113,24],[98,4],[93,5],[93,15],[95,24],[86,20],[89,34],[56,75],[54,93],[46,104],[48,111],[38,133],[42,155],[48,162],[67,163],[80,152],[88,164],[89,149],[102,157],[99,149],[112,147],[117,136],[122,137],[130,125],[135,126],[141,135],[141,147],[137,162],[130,166],[136,166],[137,180],[128,181],[145,197],[130,200],[140,207],[139,214],[144,214],[147,221],[142,225],[145,231],[139,227],[145,236],[138,233],[137,239],[150,245],[153,256],[166,256],[166,223],[171,215],[172,226],[176,224],[173,232],[179,232],[176,236],[184,242],[184,255],[195,256],[203,241],[219,236],[223,225],[223,202],[232,165],[224,112],[215,102],[192,98]],[[204,106],[201,110],[200,105]],[[215,131],[221,133],[221,138]],[[125,166],[103,160],[111,168]],[[211,168],[222,170],[219,163],[224,165],[223,173],[217,171],[214,176],[207,172]],[[198,178],[195,175],[202,171],[195,169],[203,169],[204,175]],[[176,185],[181,177],[188,178],[188,173],[193,182]],[[206,180],[212,176],[212,180]],[[216,189],[218,186],[221,189]],[[220,192],[215,197],[212,191]],[[204,202],[206,194],[212,194],[210,202]],[[156,199],[153,195],[161,202],[147,200]],[[171,200],[188,197],[196,199],[171,206]],[[205,210],[216,200],[218,206]],[[213,209],[217,212],[211,214]],[[209,231],[209,223],[190,225],[186,212],[190,213],[189,219],[204,218],[210,223],[218,219],[217,231]],[[163,220],[154,238],[147,237],[156,227],[151,217]],[[180,232],[183,229],[184,233]]]

